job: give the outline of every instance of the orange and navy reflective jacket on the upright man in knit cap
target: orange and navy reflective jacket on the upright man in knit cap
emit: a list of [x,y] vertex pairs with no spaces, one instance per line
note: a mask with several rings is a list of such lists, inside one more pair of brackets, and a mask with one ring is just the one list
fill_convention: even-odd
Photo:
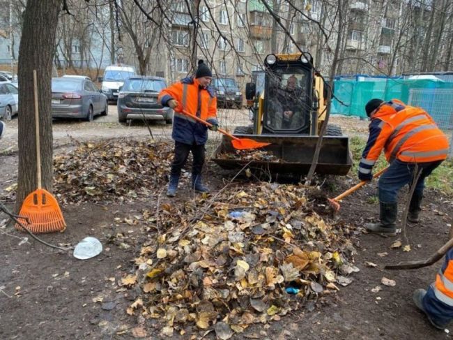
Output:
[[185,144],[205,144],[208,140],[207,128],[204,124],[181,113],[183,110],[192,116],[197,116],[206,121],[217,124],[217,98],[215,91],[210,87],[204,89],[196,78],[184,78],[170,87],[160,91],[158,101],[163,106],[168,106],[171,99],[178,101],[174,109],[173,132],[171,137]]

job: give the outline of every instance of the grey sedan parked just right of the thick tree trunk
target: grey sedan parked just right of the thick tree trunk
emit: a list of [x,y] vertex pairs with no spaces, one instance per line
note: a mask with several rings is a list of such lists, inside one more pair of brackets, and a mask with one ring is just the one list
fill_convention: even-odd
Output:
[[109,112],[107,96],[87,77],[52,78],[52,117],[93,121]]

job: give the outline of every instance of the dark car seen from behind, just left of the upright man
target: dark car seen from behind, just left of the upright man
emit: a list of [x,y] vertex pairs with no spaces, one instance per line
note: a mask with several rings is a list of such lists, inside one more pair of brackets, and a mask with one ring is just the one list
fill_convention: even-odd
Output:
[[135,75],[125,80],[118,94],[118,121],[127,119],[164,119],[173,121],[173,110],[158,103],[160,90],[167,87],[162,77]]

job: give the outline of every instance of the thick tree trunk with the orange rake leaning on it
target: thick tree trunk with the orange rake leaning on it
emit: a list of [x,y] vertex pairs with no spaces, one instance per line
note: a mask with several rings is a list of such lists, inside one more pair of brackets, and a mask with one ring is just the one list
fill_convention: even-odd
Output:
[[[16,208],[36,190],[36,133],[33,70],[38,73],[40,156],[43,188],[52,190],[52,114],[50,111],[52,61],[61,0],[29,0],[19,46],[19,173]],[[39,47],[39,48],[37,48]]]

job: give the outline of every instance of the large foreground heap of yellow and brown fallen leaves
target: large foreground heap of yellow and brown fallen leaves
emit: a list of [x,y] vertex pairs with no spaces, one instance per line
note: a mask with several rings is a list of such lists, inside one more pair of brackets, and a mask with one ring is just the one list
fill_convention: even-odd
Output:
[[307,190],[252,183],[161,205],[157,235],[121,280],[141,292],[127,312],[160,319],[167,336],[201,329],[229,339],[351,283],[353,230],[323,221]]

